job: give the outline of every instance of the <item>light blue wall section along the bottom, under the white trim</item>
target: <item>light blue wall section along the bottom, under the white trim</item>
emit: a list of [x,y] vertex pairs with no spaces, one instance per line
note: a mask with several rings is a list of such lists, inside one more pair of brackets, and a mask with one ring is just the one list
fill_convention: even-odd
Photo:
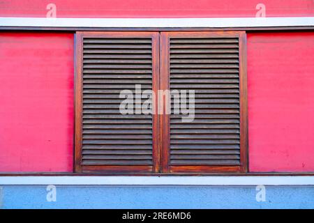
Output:
[[46,186],[2,186],[1,208],[314,208],[314,187],[57,186],[48,202]]

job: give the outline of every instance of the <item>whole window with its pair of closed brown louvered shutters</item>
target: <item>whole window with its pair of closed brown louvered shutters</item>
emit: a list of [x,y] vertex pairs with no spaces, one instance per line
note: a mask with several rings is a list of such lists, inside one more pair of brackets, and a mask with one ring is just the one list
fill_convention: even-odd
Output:
[[245,172],[245,44],[241,31],[77,32],[75,171]]

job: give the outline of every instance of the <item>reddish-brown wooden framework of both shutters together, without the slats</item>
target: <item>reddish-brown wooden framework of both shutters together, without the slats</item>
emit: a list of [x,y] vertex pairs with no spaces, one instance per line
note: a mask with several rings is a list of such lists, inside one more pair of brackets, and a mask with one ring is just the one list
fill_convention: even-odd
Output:
[[[240,97],[240,165],[239,166],[177,166],[170,167],[170,115],[153,115],[153,166],[82,166],[82,40],[84,36],[152,37],[153,91],[170,89],[169,38],[173,36],[230,36],[239,38]],[[98,174],[211,174],[247,173],[248,171],[248,103],[245,31],[78,31],[75,35],[75,155],[76,173]],[[156,100],[158,102],[158,99]],[[165,103],[165,100],[163,100]],[[156,106],[156,105],[155,105]],[[165,107],[165,105],[164,105]]]

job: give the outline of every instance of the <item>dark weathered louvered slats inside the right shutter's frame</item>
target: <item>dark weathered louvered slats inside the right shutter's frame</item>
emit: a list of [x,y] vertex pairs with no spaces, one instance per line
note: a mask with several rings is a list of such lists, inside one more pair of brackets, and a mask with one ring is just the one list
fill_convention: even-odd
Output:
[[239,38],[170,36],[169,45],[170,90],[195,90],[194,121],[170,115],[170,166],[239,165]]

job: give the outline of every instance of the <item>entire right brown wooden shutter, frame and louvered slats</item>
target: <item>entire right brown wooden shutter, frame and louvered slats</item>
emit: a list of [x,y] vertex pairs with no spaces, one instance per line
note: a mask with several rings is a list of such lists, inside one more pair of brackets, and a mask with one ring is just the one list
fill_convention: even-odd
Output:
[[245,44],[243,32],[162,33],[162,89],[195,90],[193,122],[163,115],[163,172],[246,171]]

